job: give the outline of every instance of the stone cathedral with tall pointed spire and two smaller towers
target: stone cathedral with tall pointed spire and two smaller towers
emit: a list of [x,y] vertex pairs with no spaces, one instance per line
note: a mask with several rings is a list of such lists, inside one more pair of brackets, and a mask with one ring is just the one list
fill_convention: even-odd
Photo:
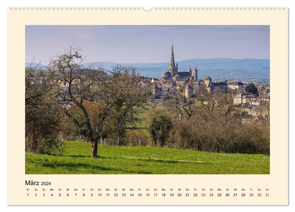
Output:
[[173,44],[171,48],[171,56],[170,56],[170,64],[168,66],[167,71],[162,76],[162,80],[165,81],[175,81],[175,80],[194,80],[197,81],[198,79],[198,71],[197,68],[194,68],[194,71],[191,71],[189,67],[187,71],[178,71],[178,63],[175,65],[174,60],[174,51],[173,51]]

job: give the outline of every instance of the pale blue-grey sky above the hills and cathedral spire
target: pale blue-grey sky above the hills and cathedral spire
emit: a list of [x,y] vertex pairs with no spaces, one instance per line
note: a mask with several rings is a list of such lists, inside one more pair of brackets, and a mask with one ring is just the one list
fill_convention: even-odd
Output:
[[269,25],[26,25],[26,62],[46,63],[73,43],[85,62],[269,59]]

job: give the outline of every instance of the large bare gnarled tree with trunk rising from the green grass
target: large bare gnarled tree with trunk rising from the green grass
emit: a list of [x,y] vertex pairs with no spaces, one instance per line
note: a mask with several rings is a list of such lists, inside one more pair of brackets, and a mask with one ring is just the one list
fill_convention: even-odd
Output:
[[[91,157],[96,158],[98,140],[106,128],[112,126],[112,131],[125,133],[126,125],[136,121],[136,108],[146,103],[149,92],[139,85],[136,68],[116,65],[107,71],[96,64],[85,67],[80,52],[72,45],[52,58],[47,68],[60,85],[58,97],[66,115],[86,130]],[[78,110],[73,110],[75,107]]]

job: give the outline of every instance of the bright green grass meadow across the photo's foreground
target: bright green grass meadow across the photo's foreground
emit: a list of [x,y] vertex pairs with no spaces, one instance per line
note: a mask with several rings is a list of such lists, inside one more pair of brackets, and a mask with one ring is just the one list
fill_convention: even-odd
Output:
[[[269,174],[269,156],[67,141],[63,156],[26,154],[26,174]],[[141,163],[142,166],[135,166]]]

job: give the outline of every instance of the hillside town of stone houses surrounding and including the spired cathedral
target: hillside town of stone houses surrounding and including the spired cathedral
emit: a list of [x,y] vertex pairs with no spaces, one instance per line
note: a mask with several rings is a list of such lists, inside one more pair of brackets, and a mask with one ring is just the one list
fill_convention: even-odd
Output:
[[[150,86],[151,92],[156,99],[165,99],[172,97],[175,91],[181,93],[187,98],[195,98],[199,92],[208,91],[208,93],[216,90],[227,90],[232,92],[234,104],[240,108],[244,108],[249,114],[256,115],[252,106],[263,104],[270,101],[270,85],[255,85],[257,92],[247,92],[247,84],[241,81],[225,80],[214,81],[210,76],[204,80],[198,80],[198,71],[195,66],[193,70],[188,67],[187,71],[178,71],[178,63],[175,64],[173,45],[171,48],[170,63],[167,71],[164,72],[161,79],[146,78],[140,81],[143,86]],[[255,90],[256,91],[256,90]]]

